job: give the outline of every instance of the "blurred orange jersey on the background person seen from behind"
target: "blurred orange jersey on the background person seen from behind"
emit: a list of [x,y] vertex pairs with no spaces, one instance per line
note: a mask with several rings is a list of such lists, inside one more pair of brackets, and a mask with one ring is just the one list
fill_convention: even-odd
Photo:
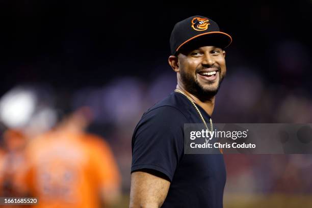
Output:
[[27,150],[25,182],[35,207],[99,207],[103,187],[119,187],[110,147],[95,136],[48,133]]

